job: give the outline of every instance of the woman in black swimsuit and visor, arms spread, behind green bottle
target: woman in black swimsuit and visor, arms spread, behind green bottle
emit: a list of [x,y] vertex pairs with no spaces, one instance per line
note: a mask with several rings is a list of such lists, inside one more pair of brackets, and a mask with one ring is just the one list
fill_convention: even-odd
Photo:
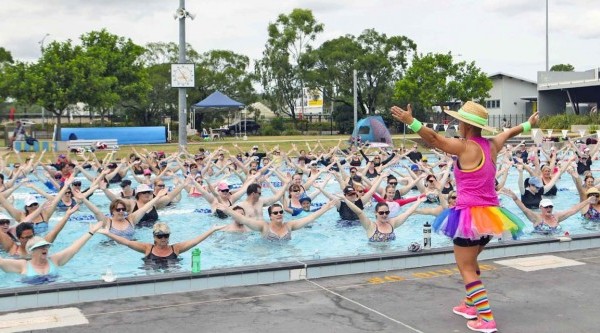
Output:
[[213,226],[203,234],[196,236],[192,239],[185,240],[182,242],[169,245],[169,239],[171,238],[171,228],[166,223],[158,222],[152,226],[152,235],[154,236],[154,242],[144,243],[134,240],[130,240],[119,235],[110,232],[107,229],[100,229],[98,233],[107,236],[115,242],[125,245],[130,249],[143,253],[144,260],[149,263],[164,263],[172,260],[178,260],[179,255],[192,247],[198,245],[204,241],[215,231],[225,228],[225,225]]

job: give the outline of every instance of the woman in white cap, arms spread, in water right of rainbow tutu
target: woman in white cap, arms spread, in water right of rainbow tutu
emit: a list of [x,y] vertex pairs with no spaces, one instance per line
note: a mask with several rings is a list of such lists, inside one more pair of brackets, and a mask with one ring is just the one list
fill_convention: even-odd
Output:
[[573,207],[560,211],[554,211],[554,203],[550,199],[542,199],[540,201],[540,212],[534,212],[531,209],[525,207],[523,202],[519,200],[519,197],[510,189],[504,188],[501,191],[502,194],[509,196],[517,207],[525,214],[525,217],[533,223],[533,232],[542,235],[553,235],[561,231],[560,222],[566,220],[572,215],[575,215],[579,211],[585,211],[589,206],[596,203],[596,198],[590,196],[586,201],[580,202]]

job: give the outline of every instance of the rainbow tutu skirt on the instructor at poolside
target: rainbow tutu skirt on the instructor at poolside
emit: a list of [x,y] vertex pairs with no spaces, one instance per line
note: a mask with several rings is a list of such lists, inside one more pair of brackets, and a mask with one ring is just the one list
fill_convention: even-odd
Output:
[[501,237],[510,231],[513,239],[522,233],[525,223],[508,209],[498,206],[477,206],[464,209],[445,209],[433,221],[435,232],[452,239],[478,240],[483,236]]

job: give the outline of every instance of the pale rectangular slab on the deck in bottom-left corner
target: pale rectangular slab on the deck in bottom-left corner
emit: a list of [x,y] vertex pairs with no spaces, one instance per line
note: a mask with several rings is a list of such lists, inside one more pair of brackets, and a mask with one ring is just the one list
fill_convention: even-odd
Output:
[[62,308],[0,315],[0,332],[24,332],[57,327],[87,325],[78,308]]

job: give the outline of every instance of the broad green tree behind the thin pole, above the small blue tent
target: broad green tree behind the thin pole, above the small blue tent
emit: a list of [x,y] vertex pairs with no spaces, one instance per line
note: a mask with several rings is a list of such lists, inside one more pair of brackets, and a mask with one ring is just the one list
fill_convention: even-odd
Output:
[[389,105],[393,83],[402,77],[408,56],[416,47],[407,37],[388,37],[373,29],[358,37],[346,35],[326,41],[310,55],[315,63],[310,84],[322,87],[329,99],[352,106],[356,70],[358,108],[373,114]]

